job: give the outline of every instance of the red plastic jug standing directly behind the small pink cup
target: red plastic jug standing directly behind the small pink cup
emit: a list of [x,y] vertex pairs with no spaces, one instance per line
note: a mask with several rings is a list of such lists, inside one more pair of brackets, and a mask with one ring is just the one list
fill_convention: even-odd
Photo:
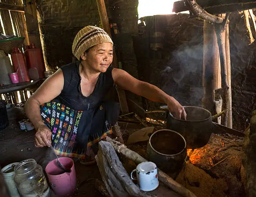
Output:
[[14,71],[18,71],[19,82],[29,82],[28,69],[26,67],[26,61],[22,52],[17,47],[13,48],[11,54]]

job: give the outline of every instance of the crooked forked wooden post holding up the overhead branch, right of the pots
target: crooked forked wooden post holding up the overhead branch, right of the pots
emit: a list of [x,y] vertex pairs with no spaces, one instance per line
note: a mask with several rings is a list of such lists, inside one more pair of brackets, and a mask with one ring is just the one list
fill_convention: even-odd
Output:
[[[224,24],[225,25],[225,24]],[[215,32],[217,36],[217,43],[220,54],[220,67],[221,67],[221,97],[222,97],[222,109],[228,109],[228,76],[227,76],[227,59],[225,52],[225,29],[223,24],[215,24]],[[221,118],[221,123],[228,126],[228,113],[225,113]]]

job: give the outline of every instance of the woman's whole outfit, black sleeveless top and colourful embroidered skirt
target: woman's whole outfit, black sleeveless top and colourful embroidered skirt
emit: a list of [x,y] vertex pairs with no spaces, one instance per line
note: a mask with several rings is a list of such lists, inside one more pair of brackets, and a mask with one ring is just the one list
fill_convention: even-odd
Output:
[[[80,86],[79,64],[80,61],[77,61],[61,67],[64,76],[64,87],[61,94],[51,103],[41,106],[43,120],[46,120],[45,123],[53,131],[53,135],[56,134],[54,131],[56,132],[56,129],[59,128],[58,135],[52,136],[54,147],[57,147],[59,152],[68,154],[74,152],[80,154],[91,143],[95,143],[105,134],[111,133],[111,126],[117,122],[120,113],[119,103],[103,101],[114,84],[113,67],[110,66],[106,72],[100,73],[92,94],[85,97],[82,95]],[[71,111],[70,117],[77,117],[75,121],[72,119],[72,124],[67,117]],[[55,122],[56,115],[57,118],[60,116],[60,120]],[[62,134],[60,134],[61,132]],[[73,135],[72,139],[71,134]],[[61,135],[67,136],[66,145],[61,143],[63,139],[59,141]]]

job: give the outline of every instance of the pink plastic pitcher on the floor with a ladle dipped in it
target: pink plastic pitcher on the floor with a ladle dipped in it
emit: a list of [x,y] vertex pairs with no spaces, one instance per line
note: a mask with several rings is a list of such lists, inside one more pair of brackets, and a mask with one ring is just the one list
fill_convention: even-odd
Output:
[[51,184],[51,189],[56,195],[66,196],[71,194],[77,186],[76,171],[74,168],[74,161],[68,157],[59,158],[61,164],[65,166],[66,169],[70,169],[70,173],[60,174],[61,170],[57,164],[57,159],[51,161],[45,168],[47,177]]

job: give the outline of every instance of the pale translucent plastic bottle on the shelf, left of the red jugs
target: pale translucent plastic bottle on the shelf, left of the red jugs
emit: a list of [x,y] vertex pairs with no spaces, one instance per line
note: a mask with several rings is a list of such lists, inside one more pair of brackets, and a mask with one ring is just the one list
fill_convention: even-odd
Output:
[[8,85],[12,84],[9,73],[13,72],[12,64],[10,59],[5,55],[4,51],[0,51],[0,84]]

